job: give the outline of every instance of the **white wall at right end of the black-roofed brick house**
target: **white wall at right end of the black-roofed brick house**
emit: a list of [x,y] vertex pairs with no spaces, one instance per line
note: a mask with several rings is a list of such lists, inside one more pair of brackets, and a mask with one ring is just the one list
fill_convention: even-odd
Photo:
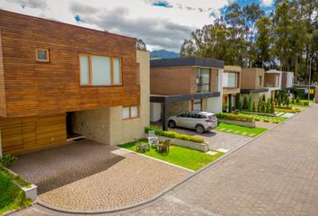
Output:
[[224,69],[218,69],[217,91],[220,92],[220,96],[208,98],[208,100],[207,100],[207,111],[208,112],[213,112],[213,113],[222,112],[223,71],[224,71]]

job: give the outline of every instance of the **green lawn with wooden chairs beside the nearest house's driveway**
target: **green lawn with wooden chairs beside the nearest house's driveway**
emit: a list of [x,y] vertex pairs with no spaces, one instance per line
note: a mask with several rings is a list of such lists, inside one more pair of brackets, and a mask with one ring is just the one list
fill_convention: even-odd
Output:
[[[119,147],[136,151],[135,142],[122,144],[119,145]],[[157,159],[161,159],[178,166],[183,166],[191,170],[198,170],[199,168],[206,166],[212,161],[216,160],[216,158],[224,155],[222,152],[217,152],[216,155],[211,156],[198,150],[173,145],[170,147],[170,152],[168,155],[159,154],[157,151],[155,151],[155,148],[150,148],[149,151],[141,154],[149,157],[155,157]]]

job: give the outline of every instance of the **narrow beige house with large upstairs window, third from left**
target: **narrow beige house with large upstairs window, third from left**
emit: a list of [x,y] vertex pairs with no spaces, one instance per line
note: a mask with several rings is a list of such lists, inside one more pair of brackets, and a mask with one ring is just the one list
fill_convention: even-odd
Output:
[[241,92],[241,70],[239,66],[225,66],[223,73],[223,106],[226,112],[235,109],[236,94]]

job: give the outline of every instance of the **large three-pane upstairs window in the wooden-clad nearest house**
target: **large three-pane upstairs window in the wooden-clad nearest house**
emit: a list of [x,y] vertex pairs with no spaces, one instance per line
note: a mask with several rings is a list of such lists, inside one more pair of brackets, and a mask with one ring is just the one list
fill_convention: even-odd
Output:
[[80,55],[81,85],[121,85],[121,58]]

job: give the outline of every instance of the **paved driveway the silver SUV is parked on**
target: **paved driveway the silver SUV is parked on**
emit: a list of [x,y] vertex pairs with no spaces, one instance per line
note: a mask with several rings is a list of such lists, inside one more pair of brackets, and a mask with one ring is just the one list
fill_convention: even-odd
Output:
[[173,130],[179,133],[189,134],[194,137],[204,138],[208,142],[208,147],[210,149],[225,148],[231,151],[231,150],[234,150],[235,148],[241,147],[247,141],[252,140],[252,138],[250,137],[243,137],[240,135],[225,133],[225,132],[216,131],[216,130],[211,130],[203,134],[198,134],[194,130],[186,130],[186,129],[180,129],[180,128],[176,128]]

